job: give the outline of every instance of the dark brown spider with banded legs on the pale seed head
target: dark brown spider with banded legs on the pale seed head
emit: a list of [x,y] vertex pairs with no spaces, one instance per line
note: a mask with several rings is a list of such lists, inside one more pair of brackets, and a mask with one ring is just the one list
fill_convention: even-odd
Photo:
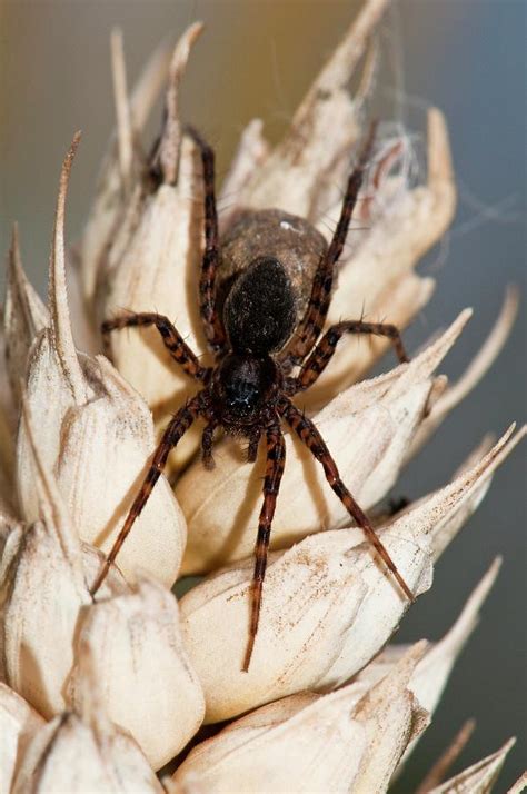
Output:
[[[368,517],[361,510],[340,478],[337,465],[315,424],[294,404],[291,397],[308,389],[326,369],[339,339],[345,334],[375,334],[388,337],[400,361],[408,361],[400,334],[394,325],[346,320],[331,326],[321,336],[328,312],[335,266],[342,251],[365,169],[371,156],[375,125],[358,157],[356,168],[349,176],[340,218],[329,246],[322,241],[310,297],[306,300],[304,316],[298,321],[298,296],[294,279],[288,276],[282,261],[274,250],[272,238],[265,235],[243,238],[235,242],[242,247],[262,248],[241,270],[235,272],[218,289],[218,270],[222,265],[222,247],[219,242],[218,216],[215,193],[213,150],[193,129],[193,138],[201,156],[205,182],[205,252],[199,282],[200,315],[208,346],[216,363],[212,367],[201,365],[198,356],[182,339],[167,317],[152,312],[126,314],[102,324],[105,349],[110,351],[109,334],[136,326],[155,326],[175,361],[201,388],[173,416],[157,446],[145,480],[130,507],[125,524],[103,563],[92,586],[95,595],[115,563],[136,518],[141,513],[153,486],[161,475],[170,450],[176,447],[192,423],[199,417],[206,420],[201,436],[201,453],[206,468],[213,466],[212,440],[215,430],[222,427],[229,435],[248,439],[248,460],[257,458],[262,436],[266,440],[267,464],[264,479],[261,507],[255,549],[255,569],[250,588],[250,622],[242,669],[248,671],[258,632],[264,578],[271,532],[272,517],[286,463],[286,445],[281,423],[286,423],[321,464],[326,478],[351,518],[362,528],[368,540],[391,573],[404,594],[414,601],[408,585],[399,574],[387,549],[380,542]],[[277,210],[248,212],[249,220],[259,218],[266,224]],[[246,214],[247,215],[247,214]],[[301,229],[318,232],[307,221],[295,216],[282,217],[297,221]],[[261,224],[260,224],[261,225]],[[241,228],[241,227],[240,227]],[[249,224],[250,228],[250,224]],[[236,237],[236,235],[235,235]],[[266,240],[265,245],[261,244]],[[251,249],[251,250],[252,250]],[[221,296],[221,291],[223,295]],[[291,371],[299,367],[297,375]]]

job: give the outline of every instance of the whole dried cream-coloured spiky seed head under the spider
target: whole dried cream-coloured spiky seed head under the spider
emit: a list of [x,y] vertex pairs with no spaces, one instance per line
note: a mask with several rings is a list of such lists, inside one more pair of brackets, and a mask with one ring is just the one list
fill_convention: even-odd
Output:
[[[368,42],[384,0],[366,2],[274,149],[251,122],[223,183],[237,208],[276,207],[328,236],[339,186],[362,129]],[[205,472],[190,435],[175,494],[161,478],[97,601],[90,585],[148,466],[156,434],[188,384],[156,336],[116,336],[113,367],[99,324],[117,309],[178,317],[205,351],[195,289],[202,251],[202,175],[183,133],[179,83],[200,24],[163,48],[128,98],[122,41],[112,37],[118,126],[105,159],[67,295],[66,192],[59,185],[44,305],[28,281],[14,230],[3,310],[0,477],[0,788],[6,792],[382,792],[429,724],[453,665],[497,576],[493,563],[435,644],[388,644],[408,608],[362,532],[287,438],[258,642],[247,639],[261,466],[232,439]],[[360,89],[351,72],[366,56]],[[147,158],[140,132],[167,79],[162,133]],[[328,322],[368,311],[405,327],[434,282],[416,271],[456,201],[445,120],[428,117],[428,177],[412,187],[408,143],[380,135]],[[146,166],[150,168],[147,169]],[[152,165],[160,175],[152,183]],[[328,208],[329,212],[328,212]],[[380,377],[358,381],[385,349],[344,344],[308,405],[344,479],[416,595],[478,507],[525,428],[470,454],[451,482],[395,514],[376,506],[399,472],[490,366],[514,321],[509,292],[480,353],[454,385],[437,375],[470,311]],[[88,322],[80,331],[80,319]],[[72,322],[77,326],[77,345]],[[149,407],[153,410],[155,420]],[[181,574],[206,574],[179,603]],[[198,733],[202,723],[222,730]],[[489,792],[511,742],[441,783],[468,728],[420,792]],[[189,743],[192,748],[190,752]],[[185,752],[183,752],[185,751]],[[172,777],[155,773],[179,755]],[[521,781],[514,791],[519,792]]]

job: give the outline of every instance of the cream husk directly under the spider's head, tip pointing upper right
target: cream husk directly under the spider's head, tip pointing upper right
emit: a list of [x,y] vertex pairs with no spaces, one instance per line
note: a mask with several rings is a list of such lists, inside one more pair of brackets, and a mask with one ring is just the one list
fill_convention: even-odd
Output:
[[[430,409],[432,373],[467,321],[463,312],[409,365],[352,386],[316,415],[315,421],[344,482],[368,509],[396,483],[400,466]],[[218,466],[203,476],[200,460],[183,474],[176,495],[189,526],[182,572],[202,573],[249,555],[258,525],[261,466],[249,467],[230,439],[217,447]],[[304,445],[286,439],[286,470],[275,514],[271,547],[335,528],[349,516],[328,488],[324,472]],[[287,495],[287,496],[286,496]]]

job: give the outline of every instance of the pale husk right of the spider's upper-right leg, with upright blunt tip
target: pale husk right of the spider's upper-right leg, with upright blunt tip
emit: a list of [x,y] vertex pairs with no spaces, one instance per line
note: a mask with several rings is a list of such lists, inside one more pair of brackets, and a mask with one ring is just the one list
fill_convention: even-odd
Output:
[[[382,183],[377,191],[379,201],[381,188]],[[415,267],[448,228],[455,204],[448,131],[441,112],[432,109],[428,115],[427,185],[411,190],[405,186],[396,200],[381,206],[378,217],[368,224],[369,230],[344,257],[327,325],[344,316],[366,315],[368,318],[389,317],[390,322],[405,328],[434,290],[432,279],[418,276]],[[364,304],[365,296],[367,304]],[[352,340],[341,345],[331,359],[330,370],[326,370],[310,390],[307,404],[327,403],[360,378],[387,347],[386,340],[380,339],[374,339],[371,346]]]

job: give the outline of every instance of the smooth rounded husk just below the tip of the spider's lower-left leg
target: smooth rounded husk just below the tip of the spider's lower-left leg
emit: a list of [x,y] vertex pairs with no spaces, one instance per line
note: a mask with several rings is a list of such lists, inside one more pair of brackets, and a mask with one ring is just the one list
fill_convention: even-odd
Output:
[[105,708],[130,733],[155,770],[179,753],[201,725],[205,702],[169,590],[141,582],[132,593],[95,604],[76,642],[69,697],[77,711],[93,675]]

